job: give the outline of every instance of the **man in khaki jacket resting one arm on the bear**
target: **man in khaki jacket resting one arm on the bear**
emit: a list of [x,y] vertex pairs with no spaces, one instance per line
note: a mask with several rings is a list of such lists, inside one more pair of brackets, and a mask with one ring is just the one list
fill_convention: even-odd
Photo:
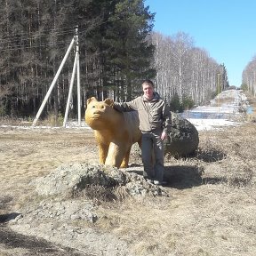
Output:
[[[141,155],[144,165],[143,176],[150,183],[163,185],[164,178],[164,139],[171,128],[171,112],[164,100],[154,92],[151,80],[142,83],[144,94],[129,102],[114,103],[118,111],[137,110],[142,132]],[[152,164],[152,150],[155,163]]]

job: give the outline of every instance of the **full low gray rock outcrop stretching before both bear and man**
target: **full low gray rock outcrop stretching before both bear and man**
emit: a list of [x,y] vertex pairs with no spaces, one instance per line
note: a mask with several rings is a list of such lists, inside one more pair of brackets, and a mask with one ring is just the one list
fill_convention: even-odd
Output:
[[121,189],[132,197],[168,196],[162,188],[148,184],[141,175],[100,164],[63,164],[30,184],[36,187],[38,195],[62,198],[78,195],[84,190],[87,195],[91,194],[90,198],[93,198],[93,193],[97,196],[98,192],[98,196],[106,194],[115,198],[116,190],[120,192]]

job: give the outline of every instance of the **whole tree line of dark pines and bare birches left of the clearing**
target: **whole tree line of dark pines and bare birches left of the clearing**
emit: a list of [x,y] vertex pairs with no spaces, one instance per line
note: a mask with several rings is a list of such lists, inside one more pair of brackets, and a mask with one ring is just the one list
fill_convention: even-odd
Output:
[[[144,0],[0,3],[0,116],[36,116],[75,28],[83,111],[91,96],[132,100],[141,94],[141,81],[146,78],[154,80],[156,90],[173,108],[202,104],[228,87],[224,64],[197,48],[188,35],[153,31],[155,13]],[[74,58],[75,51],[43,116],[65,112]],[[73,94],[70,116],[77,112],[76,90]]]

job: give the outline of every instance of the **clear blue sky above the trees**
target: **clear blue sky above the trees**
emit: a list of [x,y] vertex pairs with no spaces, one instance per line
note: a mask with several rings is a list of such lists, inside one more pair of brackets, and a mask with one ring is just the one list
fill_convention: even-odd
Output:
[[156,12],[153,30],[164,36],[188,34],[240,87],[246,65],[256,56],[255,0],[145,0]]

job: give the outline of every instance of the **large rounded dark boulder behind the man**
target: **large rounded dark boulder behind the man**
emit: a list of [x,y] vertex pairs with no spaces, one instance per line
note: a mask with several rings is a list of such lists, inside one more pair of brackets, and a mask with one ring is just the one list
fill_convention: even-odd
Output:
[[172,129],[165,140],[165,153],[174,157],[192,156],[196,153],[198,144],[196,127],[187,119],[172,112]]

